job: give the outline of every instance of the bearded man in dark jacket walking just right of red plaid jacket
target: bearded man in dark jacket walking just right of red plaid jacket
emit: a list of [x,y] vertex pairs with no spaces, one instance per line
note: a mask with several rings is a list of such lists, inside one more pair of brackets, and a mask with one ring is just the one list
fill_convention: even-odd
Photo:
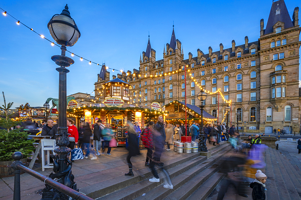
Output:
[[[160,134],[156,134],[156,137],[153,137],[153,140],[154,141],[156,140],[157,144],[161,144],[162,141],[164,142],[165,139],[166,139],[166,135],[165,135],[165,129],[164,129],[164,125],[163,125],[163,117],[162,116],[160,116],[158,118],[158,122],[157,122],[157,124],[155,124],[154,131],[157,131]],[[161,157],[161,153],[163,151],[163,147],[164,147],[164,143],[163,143],[163,145],[157,145],[157,147],[155,147],[156,151],[157,151],[156,161],[157,161],[157,165],[158,166],[163,166],[163,163],[159,162],[160,161],[160,157]],[[162,150],[161,150],[161,148],[162,148]]]

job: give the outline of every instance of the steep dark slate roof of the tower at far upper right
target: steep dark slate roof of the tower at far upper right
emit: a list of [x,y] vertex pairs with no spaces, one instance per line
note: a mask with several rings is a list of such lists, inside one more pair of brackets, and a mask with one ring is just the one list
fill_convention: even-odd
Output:
[[[276,10],[280,9],[280,14],[276,15]],[[293,27],[293,22],[290,19],[290,14],[287,11],[287,7],[284,0],[274,1],[272,3],[270,15],[268,16],[268,23],[266,24],[264,34],[273,32],[273,26],[278,22],[284,23],[284,29]]]

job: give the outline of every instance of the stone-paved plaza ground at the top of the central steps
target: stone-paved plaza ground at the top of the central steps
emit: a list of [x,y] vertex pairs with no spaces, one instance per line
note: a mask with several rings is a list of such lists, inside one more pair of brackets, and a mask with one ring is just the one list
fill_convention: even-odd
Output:
[[[207,146],[208,149],[212,148],[212,145]],[[96,183],[103,181],[108,181],[115,177],[121,176],[124,178],[124,174],[129,172],[129,168],[126,163],[126,156],[128,151],[125,148],[117,147],[112,148],[111,155],[98,156],[97,160],[82,159],[76,160],[72,166],[72,173],[75,176],[75,181],[77,188],[88,187]],[[144,166],[147,150],[141,150],[141,155],[131,158],[133,164],[133,172],[138,175],[138,170],[146,168]],[[163,163],[169,163],[169,161],[176,159],[183,159],[191,154],[178,154],[173,151],[173,146],[171,145],[171,150],[163,150],[161,156],[161,161]],[[45,176],[48,176],[52,169],[45,169],[37,171]],[[40,195],[35,194],[35,191],[44,188],[44,183],[28,174],[20,175],[21,179],[21,199],[22,200],[39,200]],[[0,199],[13,199],[13,189],[14,189],[14,177],[0,178]],[[80,190],[81,191],[81,190]]]

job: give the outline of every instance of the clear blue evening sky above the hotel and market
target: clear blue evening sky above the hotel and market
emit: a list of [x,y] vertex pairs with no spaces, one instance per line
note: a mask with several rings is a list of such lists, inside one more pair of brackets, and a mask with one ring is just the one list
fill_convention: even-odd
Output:
[[[219,44],[231,48],[260,36],[260,19],[265,26],[272,6],[271,1],[28,1],[2,0],[0,7],[12,16],[54,41],[47,23],[68,4],[81,37],[67,48],[88,60],[101,64],[105,61],[110,76],[117,70],[139,69],[140,53],[146,50],[148,31],[156,59],[163,58],[163,47],[170,42],[172,21],[175,36],[183,45],[184,58],[188,52],[197,56],[197,49],[205,54],[208,47],[219,50]],[[286,0],[292,18],[298,0]],[[1,11],[2,13],[2,11]],[[300,23],[300,20],[299,20]],[[52,55],[59,55],[57,46],[39,37],[11,16],[0,15],[0,91],[5,92],[13,107],[29,103],[42,106],[48,97],[58,98],[58,67]],[[66,54],[71,57],[69,53]],[[75,61],[68,67],[67,95],[91,93],[101,66],[88,61]],[[301,78],[299,78],[301,80]],[[3,103],[2,98],[0,100]]]

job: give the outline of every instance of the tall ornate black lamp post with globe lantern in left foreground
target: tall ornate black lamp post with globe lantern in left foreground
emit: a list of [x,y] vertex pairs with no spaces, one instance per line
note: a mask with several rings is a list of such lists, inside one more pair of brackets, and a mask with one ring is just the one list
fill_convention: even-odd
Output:
[[[67,147],[69,145],[68,128],[67,128],[67,70],[74,61],[71,58],[65,56],[66,46],[73,46],[80,37],[79,29],[76,23],[70,16],[68,6],[66,4],[65,9],[61,14],[55,14],[48,22],[48,29],[53,39],[61,45],[61,55],[54,55],[51,60],[57,64],[56,70],[59,72],[59,102],[58,102],[58,134],[56,139],[56,145],[58,148],[54,149],[54,153],[57,155],[51,155],[53,158],[53,172],[49,175],[49,178],[57,178],[57,181],[77,190],[74,182],[74,176],[72,174],[72,162],[68,158],[68,154],[71,149]],[[52,191],[51,191],[52,190]],[[46,185],[42,190],[42,199],[54,199],[60,196],[60,199],[67,200],[69,197],[58,190]]]

